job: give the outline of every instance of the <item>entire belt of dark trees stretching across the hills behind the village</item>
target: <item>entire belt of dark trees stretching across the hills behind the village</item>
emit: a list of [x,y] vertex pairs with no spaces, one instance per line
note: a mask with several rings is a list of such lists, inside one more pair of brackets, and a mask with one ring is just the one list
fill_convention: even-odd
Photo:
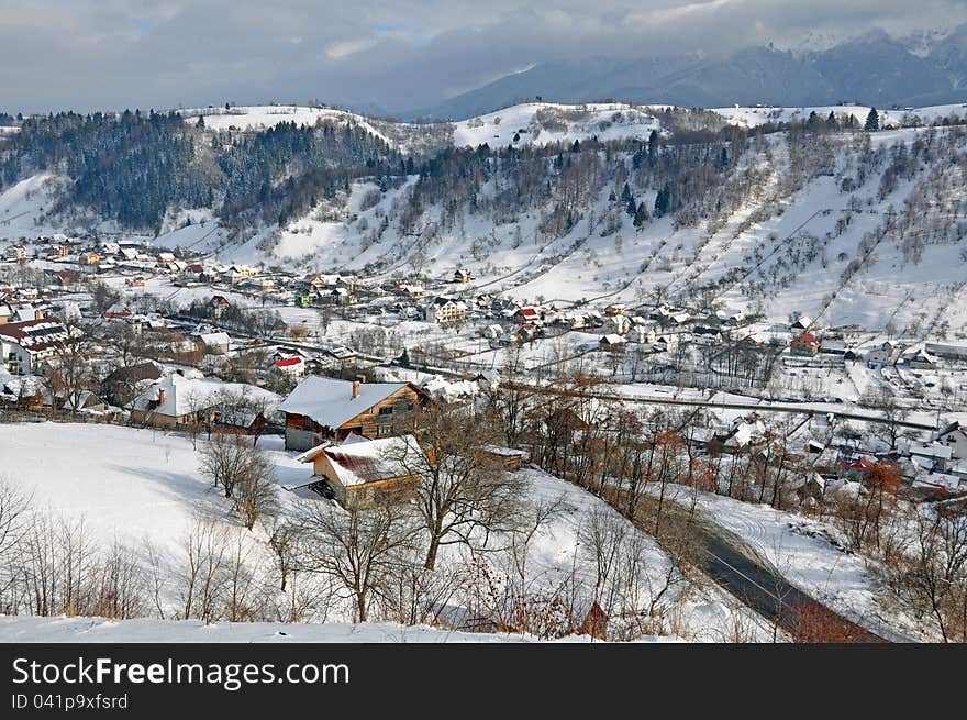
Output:
[[[402,234],[425,240],[427,228],[449,232],[465,213],[484,213],[501,225],[540,211],[540,232],[559,237],[602,192],[614,200],[612,217],[589,224],[605,232],[622,212],[635,228],[666,214],[677,225],[693,225],[734,207],[736,188],[729,178],[751,142],[783,131],[818,136],[860,130],[833,113],[742,129],[709,111],[651,112],[664,131],[652,131],[644,142],[590,137],[422,155],[404,155],[353,123],[284,122],[259,132],[209,133],[203,118],[185,122],[175,112],[63,112],[23,119],[20,132],[0,140],[0,188],[37,171],[65,174],[73,185],[64,207],[78,203],[124,226],[157,230],[173,207],[212,208],[229,225],[285,224],[345,195],[353,180],[373,178],[385,191],[416,175],[393,212]],[[438,210],[432,222],[430,208]]]

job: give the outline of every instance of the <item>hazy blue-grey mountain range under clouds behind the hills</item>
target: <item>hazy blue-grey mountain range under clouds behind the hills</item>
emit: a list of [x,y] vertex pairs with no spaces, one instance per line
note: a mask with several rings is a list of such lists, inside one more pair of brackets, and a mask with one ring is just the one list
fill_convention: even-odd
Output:
[[433,108],[400,114],[462,120],[538,96],[554,102],[614,99],[703,108],[960,102],[967,100],[967,24],[929,38],[872,31],[821,49],[767,45],[720,58],[683,54],[537,63]]

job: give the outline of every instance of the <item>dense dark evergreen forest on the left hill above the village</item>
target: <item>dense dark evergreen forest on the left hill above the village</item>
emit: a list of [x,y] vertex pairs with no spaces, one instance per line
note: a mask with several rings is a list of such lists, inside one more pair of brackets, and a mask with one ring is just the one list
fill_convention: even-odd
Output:
[[225,220],[257,210],[296,215],[351,178],[405,169],[357,128],[294,123],[260,133],[204,134],[177,113],[64,112],[23,121],[0,147],[0,187],[37,171],[65,173],[67,202],[130,228],[157,228],[173,204],[218,208]]

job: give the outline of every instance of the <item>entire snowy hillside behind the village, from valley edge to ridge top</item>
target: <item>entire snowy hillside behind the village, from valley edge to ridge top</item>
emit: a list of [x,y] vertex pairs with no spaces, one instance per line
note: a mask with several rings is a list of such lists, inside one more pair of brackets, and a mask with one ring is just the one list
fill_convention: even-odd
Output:
[[[153,242],[223,263],[371,280],[446,279],[466,267],[475,280],[465,290],[518,301],[688,303],[702,295],[770,321],[803,312],[872,330],[891,323],[920,334],[963,332],[964,192],[956,160],[967,141],[959,125],[926,123],[967,110],[887,110],[887,130],[870,135],[775,132],[735,146],[709,134],[722,130],[714,118],[755,128],[803,121],[813,111],[823,122],[831,112],[837,122],[848,113],[862,125],[868,108],[724,108],[713,115],[620,103],[524,103],[424,125],[325,108],[205,110],[208,133],[334,120],[407,152],[487,143],[491,153],[504,148],[504,156],[465,149],[446,160],[451,167],[431,162],[411,171],[402,164],[392,177],[330,185],[314,206],[303,202],[300,209],[308,210],[281,224],[274,222],[276,206],[268,218],[266,211],[241,222],[223,222],[212,208],[169,208]],[[185,121],[197,121],[197,112],[184,111]],[[705,134],[698,135],[699,145],[677,145],[681,129]],[[653,130],[668,145],[643,158],[638,148]],[[594,137],[615,142],[607,151],[547,147],[560,142],[570,151],[574,141],[588,146]],[[526,171],[520,158],[507,155],[508,146],[531,148]],[[658,213],[663,182],[674,189],[676,207]],[[65,228],[118,230],[88,211],[51,214],[67,184],[44,173],[8,187],[0,193],[0,240]],[[624,188],[652,211],[641,226],[627,212]]]

